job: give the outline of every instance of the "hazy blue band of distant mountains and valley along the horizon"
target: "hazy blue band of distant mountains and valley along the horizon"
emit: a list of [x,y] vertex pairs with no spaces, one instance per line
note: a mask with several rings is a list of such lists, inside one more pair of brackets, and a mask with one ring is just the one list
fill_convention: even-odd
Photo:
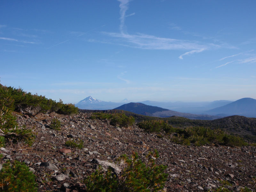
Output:
[[121,109],[147,116],[181,116],[201,120],[213,120],[232,115],[256,117],[256,100],[252,98],[212,102],[157,102],[149,100],[136,103],[127,102],[129,102],[127,99],[122,100],[122,102],[106,102],[89,96],[79,101],[76,107],[90,110]]

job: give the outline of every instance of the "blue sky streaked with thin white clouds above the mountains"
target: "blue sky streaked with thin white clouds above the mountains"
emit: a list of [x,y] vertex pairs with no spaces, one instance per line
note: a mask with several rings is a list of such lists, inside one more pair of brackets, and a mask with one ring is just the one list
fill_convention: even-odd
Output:
[[77,103],[256,99],[256,1],[10,1],[1,84]]

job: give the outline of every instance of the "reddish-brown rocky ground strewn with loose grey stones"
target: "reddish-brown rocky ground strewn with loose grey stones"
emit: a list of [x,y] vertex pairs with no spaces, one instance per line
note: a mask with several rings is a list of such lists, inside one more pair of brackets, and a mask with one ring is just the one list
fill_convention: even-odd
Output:
[[[157,149],[160,157],[156,163],[167,165],[169,176],[164,191],[214,191],[227,181],[230,191],[245,186],[256,189],[255,146],[181,146],[136,125],[119,128],[109,125],[108,120],[92,120],[90,113],[15,115],[20,125],[33,128],[36,139],[31,147],[20,143],[1,148],[4,158],[0,163],[25,162],[36,175],[39,192],[85,191],[82,181],[94,172],[100,160],[112,163],[122,154],[141,154],[146,148]],[[52,118],[61,121],[60,131],[49,128]],[[83,140],[83,148],[65,146],[72,139]]]

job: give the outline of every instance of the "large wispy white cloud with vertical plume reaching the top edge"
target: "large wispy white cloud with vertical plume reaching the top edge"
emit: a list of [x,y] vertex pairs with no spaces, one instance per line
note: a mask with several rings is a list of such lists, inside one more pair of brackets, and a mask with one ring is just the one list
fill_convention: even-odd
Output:
[[[220,48],[222,45],[217,45],[213,43],[204,43],[198,41],[191,40],[182,40],[182,39],[174,39],[174,38],[164,38],[157,37],[153,35],[147,35],[142,33],[136,34],[128,34],[125,30],[125,18],[127,16],[134,15],[132,13],[130,15],[125,15],[129,8],[129,0],[118,0],[120,2],[120,33],[113,32],[102,32],[102,34],[113,37],[113,39],[108,39],[104,41],[93,41],[107,44],[117,44],[121,46],[127,46],[137,49],[150,49],[150,50],[193,50],[186,52],[181,55],[190,55],[193,53],[202,52],[206,49],[211,48]],[[176,24],[170,24],[173,29],[180,30]],[[91,41],[92,42],[92,41]]]

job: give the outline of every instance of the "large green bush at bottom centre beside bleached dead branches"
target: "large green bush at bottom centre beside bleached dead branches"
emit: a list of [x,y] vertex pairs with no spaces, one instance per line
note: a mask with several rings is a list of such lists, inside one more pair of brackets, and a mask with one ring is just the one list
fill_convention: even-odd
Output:
[[116,174],[111,168],[105,173],[100,167],[84,180],[87,191],[156,192],[163,189],[168,176],[164,173],[166,166],[156,165],[151,157],[158,158],[158,152],[149,152],[143,161],[137,153],[133,153],[130,158],[126,155],[120,156],[116,161],[119,167]]

